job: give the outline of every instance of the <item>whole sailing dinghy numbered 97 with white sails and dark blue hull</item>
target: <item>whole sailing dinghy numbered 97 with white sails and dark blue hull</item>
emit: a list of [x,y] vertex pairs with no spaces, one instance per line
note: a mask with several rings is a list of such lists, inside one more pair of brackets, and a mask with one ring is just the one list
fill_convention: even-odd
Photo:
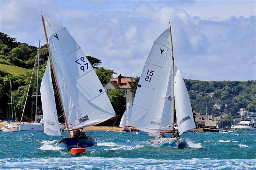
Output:
[[42,21],[50,52],[48,68],[44,73],[46,78],[43,78],[43,87],[41,85],[44,132],[60,135],[50,78],[51,62],[69,135],[69,138],[63,138],[58,143],[59,146],[76,148],[77,142],[82,148],[95,146],[95,137],[71,137],[70,132],[113,119],[116,117],[115,111],[94,69],[66,27],[43,16]]

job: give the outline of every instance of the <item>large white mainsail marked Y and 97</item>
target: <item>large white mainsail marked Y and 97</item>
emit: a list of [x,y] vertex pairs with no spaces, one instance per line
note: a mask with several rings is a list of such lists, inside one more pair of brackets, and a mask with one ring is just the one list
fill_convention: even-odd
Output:
[[69,129],[114,117],[107,93],[80,46],[64,26],[48,18],[44,18],[44,23]]

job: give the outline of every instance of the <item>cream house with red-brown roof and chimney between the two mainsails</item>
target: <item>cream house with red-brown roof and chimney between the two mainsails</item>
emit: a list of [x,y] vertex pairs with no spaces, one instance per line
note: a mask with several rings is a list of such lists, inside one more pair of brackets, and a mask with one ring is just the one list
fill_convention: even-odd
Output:
[[104,86],[106,92],[109,92],[112,89],[121,89],[124,92],[124,97],[126,101],[132,103],[133,93],[131,92],[131,85],[133,81],[131,78],[122,78],[121,74],[118,78],[111,78],[110,81]]

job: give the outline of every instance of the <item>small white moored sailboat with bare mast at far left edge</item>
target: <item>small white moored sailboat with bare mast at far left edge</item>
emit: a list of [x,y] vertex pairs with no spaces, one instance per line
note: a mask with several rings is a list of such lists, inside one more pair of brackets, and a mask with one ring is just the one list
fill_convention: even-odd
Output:
[[[11,111],[12,111],[12,117],[11,120],[7,121],[9,124],[4,125],[2,129],[3,132],[18,132],[18,126],[13,124],[13,109],[14,109],[14,115],[15,115],[15,119],[17,121],[17,116],[16,116],[16,111],[15,111],[15,105],[14,105],[14,100],[13,100],[13,96],[12,96],[12,81],[10,80],[10,94],[11,94]],[[8,118],[7,118],[8,119]],[[12,124],[10,124],[10,122],[12,122]]]

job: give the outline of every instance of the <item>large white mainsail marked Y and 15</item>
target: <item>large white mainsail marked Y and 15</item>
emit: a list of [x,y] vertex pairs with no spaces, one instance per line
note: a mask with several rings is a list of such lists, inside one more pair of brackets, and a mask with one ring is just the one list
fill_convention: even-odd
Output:
[[173,73],[170,30],[154,42],[148,55],[132,106],[130,125],[156,133],[172,130]]

